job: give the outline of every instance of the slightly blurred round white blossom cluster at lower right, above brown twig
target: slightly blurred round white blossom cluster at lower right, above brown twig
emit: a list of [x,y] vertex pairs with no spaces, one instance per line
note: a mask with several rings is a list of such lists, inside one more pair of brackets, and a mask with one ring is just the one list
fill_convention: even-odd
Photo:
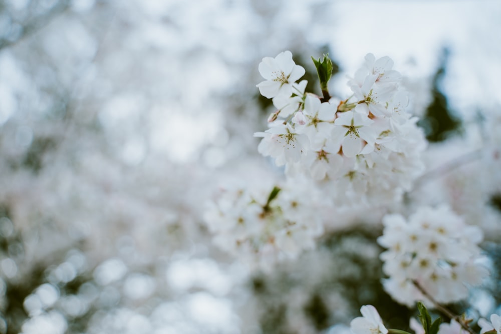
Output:
[[480,228],[465,224],[448,207],[421,207],[408,220],[400,214],[383,218],[378,243],[389,278],[385,290],[398,302],[412,306],[416,300],[448,303],[467,297],[465,284],[478,285],[487,275],[480,264]]

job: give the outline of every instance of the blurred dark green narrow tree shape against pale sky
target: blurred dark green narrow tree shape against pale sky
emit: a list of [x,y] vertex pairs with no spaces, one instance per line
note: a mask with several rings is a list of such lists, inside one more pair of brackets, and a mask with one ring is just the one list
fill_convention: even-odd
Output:
[[444,49],[440,67],[433,77],[432,101],[426,109],[424,117],[418,123],[424,129],[426,139],[430,142],[440,142],[451,135],[459,133],[461,126],[461,122],[449,109],[447,98],[440,89],[440,85],[446,74],[448,55],[448,49]]

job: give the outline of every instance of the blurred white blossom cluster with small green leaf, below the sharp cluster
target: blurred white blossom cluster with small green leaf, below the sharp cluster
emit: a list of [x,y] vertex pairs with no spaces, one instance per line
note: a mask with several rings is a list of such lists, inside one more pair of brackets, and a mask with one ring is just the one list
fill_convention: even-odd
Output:
[[204,218],[214,243],[244,262],[264,267],[313,248],[323,233],[314,190],[297,183],[257,186],[223,189],[207,204]]

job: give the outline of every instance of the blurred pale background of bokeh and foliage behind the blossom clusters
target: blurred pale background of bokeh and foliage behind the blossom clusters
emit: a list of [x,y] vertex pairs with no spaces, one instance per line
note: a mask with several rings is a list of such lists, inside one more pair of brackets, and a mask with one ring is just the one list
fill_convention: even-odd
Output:
[[430,141],[407,201],[482,227],[491,280],[451,307],[487,316],[501,302],[499,18],[497,0],[0,1],[0,333],[334,334],[367,303],[408,328],[370,211],[274,272],[211,245],[217,187],[282,177],[253,133],[273,111],[258,64],[285,50],[316,93],[310,57],[329,53],[340,98],[367,53],[394,60]]

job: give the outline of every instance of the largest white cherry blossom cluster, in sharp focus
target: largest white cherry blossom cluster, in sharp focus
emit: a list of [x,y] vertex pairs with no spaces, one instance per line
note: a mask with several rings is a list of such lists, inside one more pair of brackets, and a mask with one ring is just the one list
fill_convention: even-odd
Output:
[[259,152],[285,165],[288,176],[308,175],[325,185],[335,203],[399,199],[422,173],[426,144],[392,67],[389,57],[368,54],[348,82],[353,95],[340,100],[324,89],[322,98],[306,93],[307,82],[297,82],[305,69],[291,52],[263,58],[259,72],[266,80],[257,87],[276,111],[270,128],[255,134],[263,138]]

